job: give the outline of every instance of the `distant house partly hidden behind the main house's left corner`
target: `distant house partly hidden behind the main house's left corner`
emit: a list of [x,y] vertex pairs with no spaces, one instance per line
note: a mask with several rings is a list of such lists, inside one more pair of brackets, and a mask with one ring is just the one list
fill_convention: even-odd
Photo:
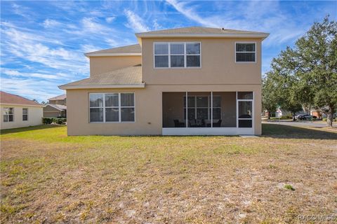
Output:
[[48,104],[44,106],[44,118],[65,118],[67,117],[67,96],[62,94],[48,99]]

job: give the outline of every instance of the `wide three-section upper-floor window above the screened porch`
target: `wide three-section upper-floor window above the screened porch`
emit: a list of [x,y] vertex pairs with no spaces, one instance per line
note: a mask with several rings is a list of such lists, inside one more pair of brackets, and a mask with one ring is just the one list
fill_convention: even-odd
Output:
[[155,68],[199,68],[200,43],[154,43]]

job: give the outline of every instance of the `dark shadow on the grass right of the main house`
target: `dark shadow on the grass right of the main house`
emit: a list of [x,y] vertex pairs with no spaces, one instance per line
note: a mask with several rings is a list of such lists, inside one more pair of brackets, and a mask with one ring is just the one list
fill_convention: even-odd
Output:
[[337,133],[288,125],[262,125],[262,137],[276,139],[337,139]]

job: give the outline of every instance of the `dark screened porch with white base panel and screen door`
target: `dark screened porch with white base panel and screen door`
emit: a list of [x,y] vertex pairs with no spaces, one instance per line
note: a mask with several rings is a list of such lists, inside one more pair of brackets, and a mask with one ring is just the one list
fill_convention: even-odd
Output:
[[163,92],[163,134],[253,134],[253,92]]

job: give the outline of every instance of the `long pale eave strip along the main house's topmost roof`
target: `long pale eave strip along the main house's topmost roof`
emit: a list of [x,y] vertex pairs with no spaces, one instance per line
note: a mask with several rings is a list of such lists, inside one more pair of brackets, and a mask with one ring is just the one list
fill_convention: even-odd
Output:
[[241,38],[267,38],[269,33],[242,33],[242,34],[146,34],[146,33],[138,33],[136,34],[138,38],[153,38],[153,37],[241,37]]

